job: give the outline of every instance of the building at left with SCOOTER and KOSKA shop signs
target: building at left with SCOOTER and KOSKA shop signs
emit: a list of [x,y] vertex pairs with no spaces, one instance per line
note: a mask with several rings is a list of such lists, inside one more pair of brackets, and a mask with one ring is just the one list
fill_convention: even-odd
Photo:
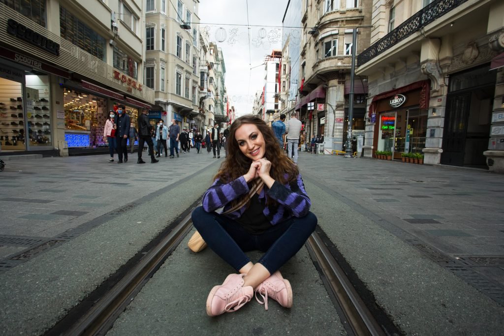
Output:
[[108,111],[151,108],[140,0],[0,1],[0,149],[106,147]]

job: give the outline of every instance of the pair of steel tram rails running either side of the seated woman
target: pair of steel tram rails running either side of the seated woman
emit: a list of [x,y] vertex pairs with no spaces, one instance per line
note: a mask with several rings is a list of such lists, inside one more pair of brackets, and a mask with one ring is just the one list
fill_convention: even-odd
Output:
[[[101,295],[84,314],[80,314],[80,318],[72,319],[72,321],[65,321],[64,318],[53,329],[48,330],[45,335],[95,336],[106,334],[118,316],[192,230],[191,213],[192,211],[186,212],[186,216],[176,223],[173,229],[139,262],[130,267],[120,280],[104,295]],[[313,232],[305,246],[312,260],[320,266],[319,272],[326,280],[324,281],[326,290],[334,295],[343,312],[343,319],[348,323],[347,332],[354,335],[371,336],[389,334],[381,328],[368,310],[320,235]]]

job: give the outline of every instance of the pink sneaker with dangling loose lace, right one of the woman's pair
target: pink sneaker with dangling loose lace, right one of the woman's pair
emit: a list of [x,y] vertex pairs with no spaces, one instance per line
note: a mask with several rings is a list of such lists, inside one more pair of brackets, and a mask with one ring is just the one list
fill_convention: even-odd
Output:
[[[257,293],[261,295],[264,302],[258,299]],[[268,310],[268,297],[280,303],[282,307],[292,307],[292,287],[290,287],[290,282],[282,277],[280,271],[273,273],[256,289],[256,300],[260,304],[264,303],[266,310]]]

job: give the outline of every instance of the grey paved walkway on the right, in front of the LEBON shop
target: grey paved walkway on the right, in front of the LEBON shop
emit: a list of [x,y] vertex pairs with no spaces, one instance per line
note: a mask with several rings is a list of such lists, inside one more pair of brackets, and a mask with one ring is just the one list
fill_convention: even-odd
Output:
[[503,175],[303,154],[305,181],[330,189],[430,259],[469,266],[504,289]]

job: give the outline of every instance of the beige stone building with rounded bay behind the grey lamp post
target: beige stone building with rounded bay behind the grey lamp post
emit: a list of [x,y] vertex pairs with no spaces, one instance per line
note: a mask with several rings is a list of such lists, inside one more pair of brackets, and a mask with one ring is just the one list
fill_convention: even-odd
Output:
[[[301,142],[324,135],[324,154],[343,150],[350,123],[354,133],[364,131],[365,76],[355,78],[352,120],[348,108],[352,54],[369,46],[371,6],[371,0],[307,0],[299,7],[303,30],[294,110],[304,125]],[[293,79],[290,84],[295,85]]]

